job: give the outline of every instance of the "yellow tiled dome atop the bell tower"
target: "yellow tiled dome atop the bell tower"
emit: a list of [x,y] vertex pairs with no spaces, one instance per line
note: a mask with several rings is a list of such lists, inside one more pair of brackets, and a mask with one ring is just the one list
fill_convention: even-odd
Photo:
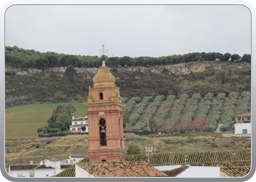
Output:
[[116,79],[110,73],[108,67],[100,67],[98,73],[94,76],[94,87],[115,87]]

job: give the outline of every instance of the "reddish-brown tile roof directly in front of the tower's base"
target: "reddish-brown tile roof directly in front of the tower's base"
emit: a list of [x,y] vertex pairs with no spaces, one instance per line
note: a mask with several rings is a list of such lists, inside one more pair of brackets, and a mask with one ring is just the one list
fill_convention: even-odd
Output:
[[132,162],[78,162],[83,170],[95,177],[167,177],[165,173],[145,161]]

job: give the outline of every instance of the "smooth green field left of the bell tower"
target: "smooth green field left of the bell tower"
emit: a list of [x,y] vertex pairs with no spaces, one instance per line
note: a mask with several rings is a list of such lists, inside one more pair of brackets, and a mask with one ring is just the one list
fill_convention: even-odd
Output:
[[37,128],[47,125],[59,105],[75,106],[75,117],[86,116],[87,107],[83,103],[49,103],[16,106],[5,109],[5,138],[37,138]]

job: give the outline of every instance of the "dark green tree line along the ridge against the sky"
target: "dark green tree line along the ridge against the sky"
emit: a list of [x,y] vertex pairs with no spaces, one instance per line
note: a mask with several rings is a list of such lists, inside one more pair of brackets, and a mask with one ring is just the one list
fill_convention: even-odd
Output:
[[[200,60],[219,60],[230,62],[251,62],[251,55],[244,54],[242,57],[238,54],[219,52],[192,52],[184,55],[167,55],[159,58],[141,56],[138,58],[110,57],[106,56],[106,65],[109,67],[118,66],[159,66],[176,63],[188,63]],[[43,71],[47,68],[56,66],[69,66],[94,68],[102,65],[102,59],[97,56],[89,55],[64,55],[56,52],[38,52],[35,50],[24,50],[17,46],[5,47],[6,63],[22,68],[39,68]]]

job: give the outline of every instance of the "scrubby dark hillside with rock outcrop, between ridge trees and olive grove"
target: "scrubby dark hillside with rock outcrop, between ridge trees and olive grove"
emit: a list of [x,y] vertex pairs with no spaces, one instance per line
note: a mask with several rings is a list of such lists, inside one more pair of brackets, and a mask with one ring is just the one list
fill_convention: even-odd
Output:
[[[116,77],[116,86],[120,87],[121,97],[176,95],[187,93],[190,96],[200,92],[217,95],[219,92],[243,92],[251,90],[249,65],[219,61],[200,61],[169,66],[110,68]],[[250,67],[250,66],[249,66]],[[54,102],[56,93],[61,92],[68,100],[80,95],[86,100],[89,85],[98,68],[75,68],[75,82],[64,77],[65,68],[50,68],[48,71],[37,69],[23,70],[6,67],[6,98],[30,95],[37,102]],[[225,84],[216,79],[217,69],[226,72]],[[76,98],[77,99],[77,98]]]

